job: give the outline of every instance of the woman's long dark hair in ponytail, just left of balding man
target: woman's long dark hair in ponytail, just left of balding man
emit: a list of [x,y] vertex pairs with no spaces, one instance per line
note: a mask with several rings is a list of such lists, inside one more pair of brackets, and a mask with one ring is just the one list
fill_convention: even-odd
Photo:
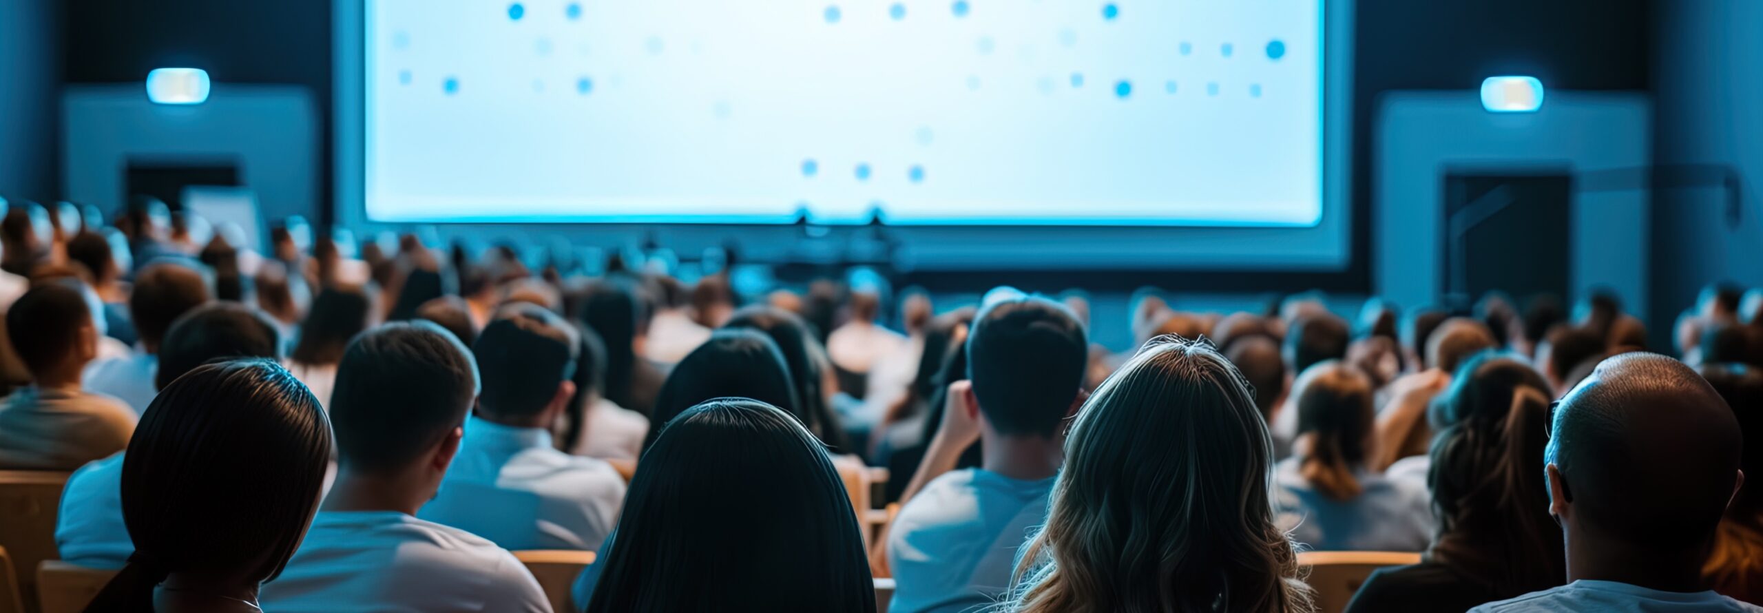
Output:
[[1430,557],[1500,597],[1567,576],[1543,481],[1548,389],[1529,365],[1484,352],[1458,368],[1428,412],[1437,435],[1426,483],[1439,516]]

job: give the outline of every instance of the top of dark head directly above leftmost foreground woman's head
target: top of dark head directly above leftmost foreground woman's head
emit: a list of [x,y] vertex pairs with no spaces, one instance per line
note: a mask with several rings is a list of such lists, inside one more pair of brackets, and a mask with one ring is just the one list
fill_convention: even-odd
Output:
[[178,317],[159,347],[160,389],[183,373],[215,359],[280,358],[282,338],[268,319],[238,303],[197,306]]

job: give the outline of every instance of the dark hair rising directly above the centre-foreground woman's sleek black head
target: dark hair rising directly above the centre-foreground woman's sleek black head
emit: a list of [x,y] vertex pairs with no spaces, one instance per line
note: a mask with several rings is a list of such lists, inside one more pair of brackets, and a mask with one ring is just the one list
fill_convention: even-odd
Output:
[[751,329],[718,329],[668,373],[649,416],[643,451],[656,444],[670,419],[705,400],[725,396],[753,398],[802,419],[802,403],[777,343]]

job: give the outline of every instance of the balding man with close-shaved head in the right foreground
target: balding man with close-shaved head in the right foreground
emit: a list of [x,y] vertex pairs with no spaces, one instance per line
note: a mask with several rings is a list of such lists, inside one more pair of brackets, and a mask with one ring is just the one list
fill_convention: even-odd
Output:
[[1738,419],[1694,370],[1606,359],[1560,400],[1544,454],[1569,583],[1472,611],[1763,611],[1701,574],[1742,456]]

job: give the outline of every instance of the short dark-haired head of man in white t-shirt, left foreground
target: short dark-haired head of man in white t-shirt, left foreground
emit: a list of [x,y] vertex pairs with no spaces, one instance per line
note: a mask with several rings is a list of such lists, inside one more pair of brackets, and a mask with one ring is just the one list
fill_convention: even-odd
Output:
[[361,333],[331,388],[338,469],[404,469],[465,423],[476,396],[478,365],[441,326],[393,322]]

